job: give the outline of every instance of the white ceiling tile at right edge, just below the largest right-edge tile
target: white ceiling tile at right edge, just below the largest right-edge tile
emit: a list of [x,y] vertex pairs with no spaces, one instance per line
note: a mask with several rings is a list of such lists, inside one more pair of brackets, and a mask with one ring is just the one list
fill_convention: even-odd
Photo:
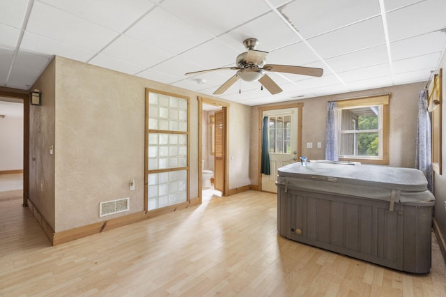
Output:
[[394,41],[390,43],[390,52],[392,52],[392,60],[397,61],[423,54],[441,52],[445,47],[445,43],[446,33],[437,31]]

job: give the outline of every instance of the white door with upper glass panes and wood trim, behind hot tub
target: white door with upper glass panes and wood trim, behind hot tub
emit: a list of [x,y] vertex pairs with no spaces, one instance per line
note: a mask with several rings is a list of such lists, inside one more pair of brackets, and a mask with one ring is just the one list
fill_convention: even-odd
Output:
[[[302,147],[302,103],[259,108],[259,185],[264,192],[277,193],[277,169],[296,162]],[[261,173],[263,119],[268,123],[270,174]]]

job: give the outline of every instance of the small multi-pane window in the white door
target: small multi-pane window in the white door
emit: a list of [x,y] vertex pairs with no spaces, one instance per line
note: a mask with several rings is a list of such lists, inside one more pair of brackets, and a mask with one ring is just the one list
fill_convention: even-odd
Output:
[[291,151],[291,115],[269,116],[270,153]]

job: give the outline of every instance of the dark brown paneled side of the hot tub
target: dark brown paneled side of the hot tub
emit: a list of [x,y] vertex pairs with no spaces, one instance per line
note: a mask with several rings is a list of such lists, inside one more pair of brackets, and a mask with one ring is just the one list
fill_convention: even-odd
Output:
[[[286,190],[286,192],[285,192]],[[429,206],[309,192],[277,185],[277,231],[294,241],[399,271],[431,268]]]

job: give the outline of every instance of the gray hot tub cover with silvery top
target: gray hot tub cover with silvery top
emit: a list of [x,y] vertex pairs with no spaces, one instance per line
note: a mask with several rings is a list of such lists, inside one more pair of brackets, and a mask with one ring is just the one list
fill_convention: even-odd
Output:
[[435,201],[418,169],[349,162],[312,161],[278,169],[277,185],[399,203]]

